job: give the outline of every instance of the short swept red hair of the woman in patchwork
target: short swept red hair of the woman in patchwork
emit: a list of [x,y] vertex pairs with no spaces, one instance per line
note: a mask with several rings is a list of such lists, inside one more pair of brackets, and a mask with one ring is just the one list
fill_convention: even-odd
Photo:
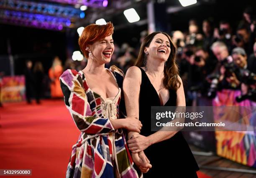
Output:
[[114,33],[113,23],[108,22],[106,25],[91,24],[84,28],[82,35],[79,37],[78,44],[84,56],[88,58],[89,52],[85,50],[88,45],[104,39]]

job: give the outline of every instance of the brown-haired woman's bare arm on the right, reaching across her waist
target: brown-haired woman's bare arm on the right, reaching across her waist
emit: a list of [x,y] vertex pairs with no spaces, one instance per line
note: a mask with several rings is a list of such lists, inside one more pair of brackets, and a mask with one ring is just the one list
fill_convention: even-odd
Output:
[[[177,106],[186,106],[182,80],[179,76],[178,76],[178,79],[181,82],[181,85],[180,85],[179,89],[177,89],[176,104],[177,104]],[[132,153],[139,153],[139,152],[145,150],[150,145],[153,145],[157,142],[161,142],[161,141],[171,138],[177,132],[178,131],[157,131],[154,134],[151,134],[147,137],[145,137],[143,135],[138,135],[137,137],[134,137],[134,138],[128,140],[128,146],[129,146],[129,149],[132,151]]]

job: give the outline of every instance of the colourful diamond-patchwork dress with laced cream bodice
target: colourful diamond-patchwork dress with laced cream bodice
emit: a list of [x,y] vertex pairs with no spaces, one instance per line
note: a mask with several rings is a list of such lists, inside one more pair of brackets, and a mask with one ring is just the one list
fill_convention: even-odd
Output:
[[[114,98],[93,92],[82,71],[66,70],[60,77],[64,102],[81,131],[67,167],[67,178],[139,178],[125,140],[125,130],[115,130],[110,119],[118,119],[123,72],[108,69],[119,86]],[[123,102],[124,103],[124,102]]]

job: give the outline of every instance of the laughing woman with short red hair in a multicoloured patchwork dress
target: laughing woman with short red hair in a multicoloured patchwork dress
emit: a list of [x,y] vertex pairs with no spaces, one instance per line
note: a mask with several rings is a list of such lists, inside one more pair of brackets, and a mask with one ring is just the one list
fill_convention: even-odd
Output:
[[[87,66],[82,71],[68,69],[60,77],[64,102],[81,131],[73,146],[67,178],[142,176],[133,163],[123,130],[140,132],[141,122],[134,116],[120,117],[124,74],[115,66],[105,68],[114,51],[113,30],[112,23],[85,27],[79,46],[88,59]],[[137,158],[135,161],[142,163]]]

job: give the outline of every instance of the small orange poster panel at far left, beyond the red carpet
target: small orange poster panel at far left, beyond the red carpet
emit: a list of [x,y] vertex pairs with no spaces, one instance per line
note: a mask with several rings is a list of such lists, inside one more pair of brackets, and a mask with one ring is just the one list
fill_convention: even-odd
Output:
[[4,76],[1,82],[3,102],[22,101],[25,96],[25,76]]

